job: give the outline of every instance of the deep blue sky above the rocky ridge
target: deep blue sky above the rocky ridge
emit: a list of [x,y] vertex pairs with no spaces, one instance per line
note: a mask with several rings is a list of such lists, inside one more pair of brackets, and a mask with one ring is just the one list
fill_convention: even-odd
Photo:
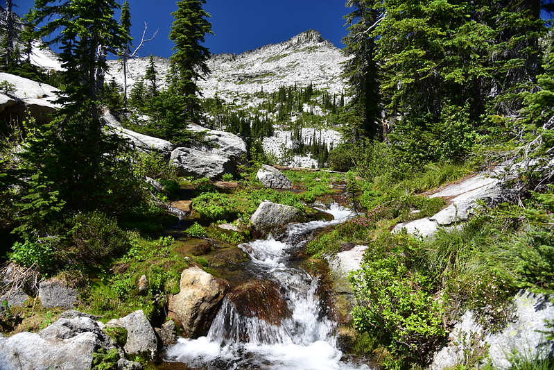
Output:
[[[19,15],[34,5],[33,0],[14,3],[19,6],[15,8]],[[140,56],[171,56],[173,44],[168,34],[177,1],[129,0],[129,3],[135,40],[140,39],[144,22],[148,24],[147,35],[159,29],[157,37],[144,45]],[[207,0],[204,9],[211,15],[209,22],[216,35],[207,35],[205,46],[212,53],[239,54],[315,29],[342,48],[340,40],[347,34],[343,16],[349,12],[345,3],[345,0]]]

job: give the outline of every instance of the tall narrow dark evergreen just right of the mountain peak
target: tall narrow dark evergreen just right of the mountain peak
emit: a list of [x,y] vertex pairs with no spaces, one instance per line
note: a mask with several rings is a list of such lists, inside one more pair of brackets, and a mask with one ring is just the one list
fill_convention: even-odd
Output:
[[370,0],[348,0],[346,4],[354,10],[345,17],[349,34],[343,40],[346,45],[343,52],[350,58],[345,62],[343,74],[352,95],[351,109],[361,117],[360,125],[351,124],[349,128],[349,140],[354,142],[364,137],[383,138],[375,36],[371,33],[382,18],[372,4]]

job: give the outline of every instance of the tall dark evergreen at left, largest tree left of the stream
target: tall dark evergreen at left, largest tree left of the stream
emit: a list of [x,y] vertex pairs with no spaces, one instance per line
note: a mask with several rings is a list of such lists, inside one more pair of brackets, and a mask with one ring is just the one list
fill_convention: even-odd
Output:
[[60,44],[66,88],[58,97],[62,108],[40,127],[25,157],[52,187],[40,192],[58,192],[70,210],[107,206],[108,174],[119,166],[122,142],[106,135],[99,101],[105,52],[115,53],[122,44],[116,8],[114,0],[37,0],[28,15],[36,24],[46,22],[38,37],[52,36],[47,44]]

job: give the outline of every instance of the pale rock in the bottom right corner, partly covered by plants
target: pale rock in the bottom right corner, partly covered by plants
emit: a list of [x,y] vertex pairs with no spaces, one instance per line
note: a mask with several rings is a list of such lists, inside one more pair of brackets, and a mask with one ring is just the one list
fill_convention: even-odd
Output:
[[553,303],[546,296],[520,292],[514,305],[517,319],[508,323],[500,333],[487,333],[476,323],[473,312],[466,312],[451,330],[448,345],[435,353],[429,369],[465,365],[467,353],[488,355],[494,369],[510,369],[513,353],[530,360],[551,356],[552,342],[546,341],[544,333],[548,332],[546,320],[554,318]]

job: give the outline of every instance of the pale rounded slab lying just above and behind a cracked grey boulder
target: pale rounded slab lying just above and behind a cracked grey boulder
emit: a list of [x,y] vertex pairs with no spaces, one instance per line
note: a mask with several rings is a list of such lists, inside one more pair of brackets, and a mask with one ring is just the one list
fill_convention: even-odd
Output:
[[193,142],[190,146],[192,149],[198,149],[206,153],[229,158],[235,164],[242,163],[246,158],[248,153],[246,143],[241,139],[241,137],[234,135],[233,133],[209,130],[197,124],[189,124],[187,129],[196,133],[205,133],[204,140],[209,142],[209,145]]

